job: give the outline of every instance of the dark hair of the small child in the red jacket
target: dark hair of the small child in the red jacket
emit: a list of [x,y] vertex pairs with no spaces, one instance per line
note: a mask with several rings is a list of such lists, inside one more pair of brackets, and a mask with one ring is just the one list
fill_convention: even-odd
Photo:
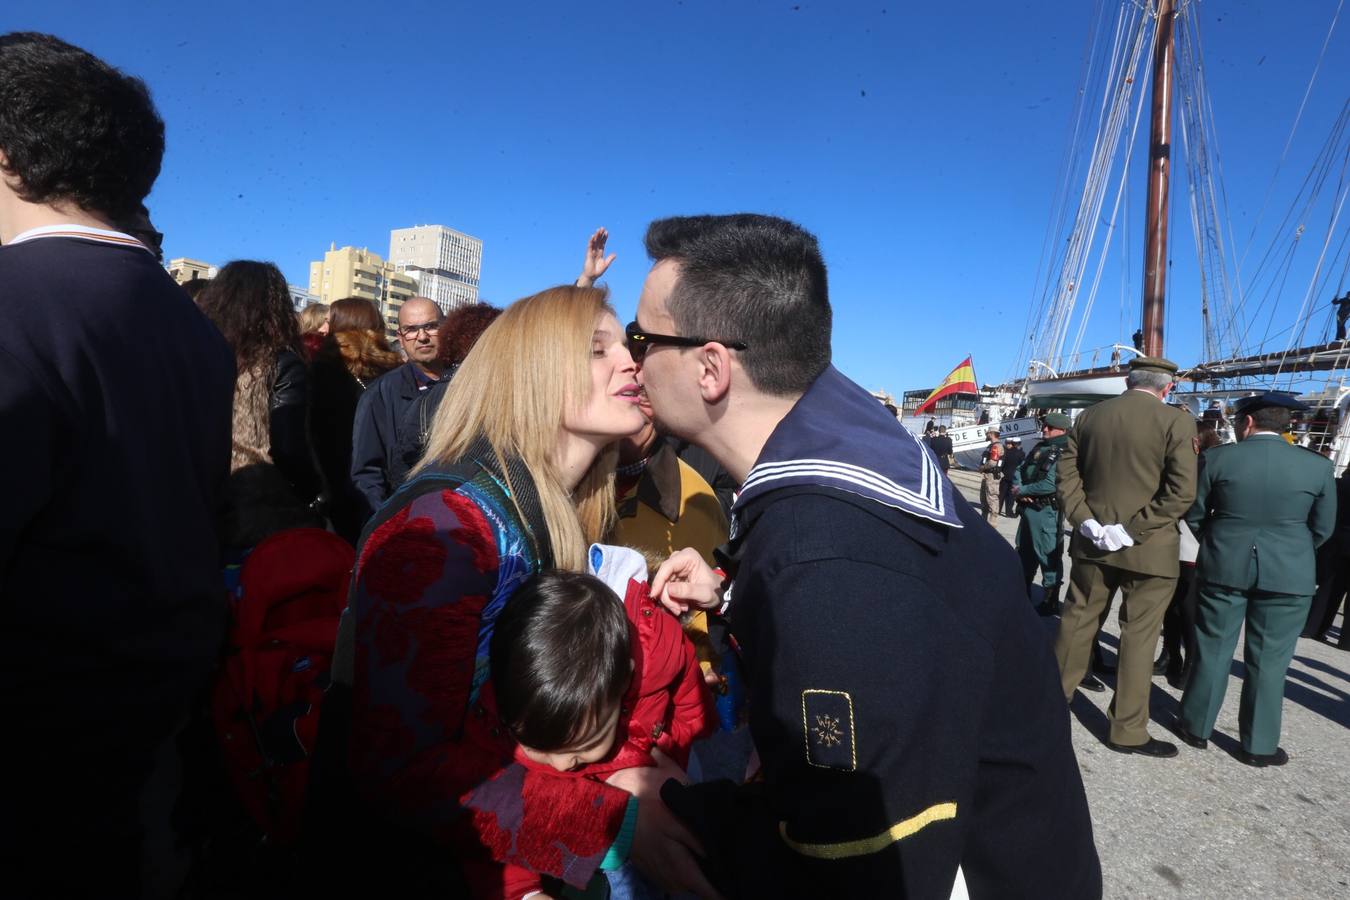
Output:
[[540,572],[506,602],[490,646],[497,710],[526,748],[560,750],[632,677],[628,615],[591,575]]

